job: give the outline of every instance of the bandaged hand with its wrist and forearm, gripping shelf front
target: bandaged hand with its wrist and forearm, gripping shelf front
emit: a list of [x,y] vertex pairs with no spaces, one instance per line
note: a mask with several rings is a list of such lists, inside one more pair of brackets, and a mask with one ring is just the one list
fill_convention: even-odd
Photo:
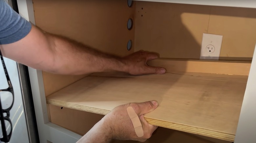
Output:
[[[132,121],[127,113],[128,107],[133,107],[139,116],[144,135],[138,137],[135,133]],[[144,103],[128,103],[114,108],[109,114],[102,118],[86,135],[77,143],[109,143],[116,140],[137,140],[146,141],[151,137],[157,126],[148,124],[144,114],[155,110],[158,107],[157,101]]]

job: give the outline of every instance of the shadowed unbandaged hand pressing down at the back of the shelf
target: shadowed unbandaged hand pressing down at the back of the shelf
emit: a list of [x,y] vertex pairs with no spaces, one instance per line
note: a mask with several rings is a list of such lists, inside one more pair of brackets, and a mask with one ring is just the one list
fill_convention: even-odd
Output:
[[159,56],[155,53],[145,52],[143,50],[135,52],[123,58],[125,63],[125,72],[132,75],[140,74],[164,74],[165,69],[161,67],[151,67],[147,65],[147,61],[157,59]]

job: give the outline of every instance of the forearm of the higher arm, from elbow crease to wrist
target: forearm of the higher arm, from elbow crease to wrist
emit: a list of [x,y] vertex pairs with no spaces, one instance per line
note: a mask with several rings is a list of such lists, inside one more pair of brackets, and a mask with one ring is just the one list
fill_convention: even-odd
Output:
[[76,41],[45,33],[53,51],[54,72],[84,74],[101,71],[126,71],[120,57],[108,55]]

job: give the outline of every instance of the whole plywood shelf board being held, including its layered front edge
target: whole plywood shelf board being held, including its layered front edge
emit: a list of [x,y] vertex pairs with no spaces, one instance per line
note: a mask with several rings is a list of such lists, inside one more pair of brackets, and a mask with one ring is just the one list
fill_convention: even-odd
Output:
[[[115,77],[114,77],[115,76]],[[157,100],[153,125],[234,141],[248,76],[178,72],[91,75],[47,97],[47,103],[106,115],[118,105]]]

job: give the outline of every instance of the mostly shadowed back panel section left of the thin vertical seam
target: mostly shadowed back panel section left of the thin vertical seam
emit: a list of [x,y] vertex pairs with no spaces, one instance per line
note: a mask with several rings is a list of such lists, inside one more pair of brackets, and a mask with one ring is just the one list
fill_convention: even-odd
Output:
[[207,32],[209,14],[210,6],[136,1],[135,50],[166,58],[200,57],[199,43]]

